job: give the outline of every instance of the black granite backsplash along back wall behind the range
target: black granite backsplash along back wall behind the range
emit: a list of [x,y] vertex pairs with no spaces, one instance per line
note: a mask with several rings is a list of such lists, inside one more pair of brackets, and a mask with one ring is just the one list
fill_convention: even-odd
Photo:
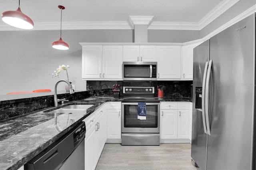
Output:
[[[119,84],[123,86],[149,86],[155,87],[155,97],[157,97],[156,86],[165,86],[164,97],[191,97],[191,87],[193,81],[87,81],[86,89],[91,96],[113,96],[112,86]],[[122,97],[122,92],[121,92]]]

